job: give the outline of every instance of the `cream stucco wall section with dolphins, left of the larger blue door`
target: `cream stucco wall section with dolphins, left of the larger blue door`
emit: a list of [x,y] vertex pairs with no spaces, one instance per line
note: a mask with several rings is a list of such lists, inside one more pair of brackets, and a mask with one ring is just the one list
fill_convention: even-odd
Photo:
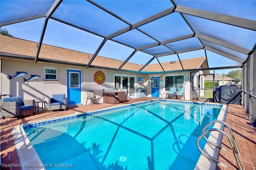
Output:
[[[42,99],[45,96],[46,101],[52,94],[66,94],[67,78],[66,68],[58,66],[59,81],[44,82],[44,66],[56,67],[50,64],[28,63],[22,61],[2,60],[2,93],[10,96],[21,96],[22,99],[35,99],[38,96]],[[8,75],[15,76],[16,72],[27,72],[24,77],[8,79]],[[62,74],[65,72],[65,74]],[[30,75],[38,75],[40,78],[29,82],[24,82],[24,78],[30,78]]]

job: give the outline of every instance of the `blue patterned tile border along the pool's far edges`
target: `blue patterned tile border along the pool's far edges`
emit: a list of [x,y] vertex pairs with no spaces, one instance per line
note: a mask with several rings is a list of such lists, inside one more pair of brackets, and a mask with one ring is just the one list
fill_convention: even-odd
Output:
[[96,111],[89,111],[89,112],[83,112],[83,113],[77,113],[76,115],[69,115],[69,116],[65,116],[65,117],[56,117],[55,119],[50,119],[50,120],[44,120],[44,121],[39,121],[39,122],[34,122],[34,123],[26,123],[24,125],[22,125],[23,129],[30,129],[30,128],[35,128],[35,127],[39,127],[42,125],[48,125],[50,123],[58,123],[61,121],[67,121],[67,120],[71,120],[71,119],[75,119],[78,117],[84,117],[84,116],[88,116],[88,115],[95,115],[95,114],[102,114],[105,113],[107,111],[114,111],[117,109],[124,109],[127,107],[132,107],[132,106],[138,106],[138,105],[142,105],[142,104],[148,104],[151,102],[169,102],[169,103],[176,103],[176,104],[197,104],[197,105],[202,105],[202,106],[210,106],[210,107],[222,107],[222,104],[211,104],[211,103],[202,103],[202,102],[185,102],[185,101],[180,101],[180,100],[168,100],[168,99],[154,99],[154,100],[148,100],[146,102],[138,102],[138,103],[134,103],[134,104],[126,104],[123,106],[117,106],[117,107],[110,107],[107,109],[99,109]]

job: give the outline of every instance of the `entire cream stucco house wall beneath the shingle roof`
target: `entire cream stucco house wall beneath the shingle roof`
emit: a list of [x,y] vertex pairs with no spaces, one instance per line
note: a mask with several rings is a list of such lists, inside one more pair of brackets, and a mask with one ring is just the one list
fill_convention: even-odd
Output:
[[[58,68],[58,81],[44,81],[44,67]],[[100,97],[101,102],[103,102],[102,89],[114,88],[114,75],[120,74],[125,76],[135,77],[135,95],[129,96],[129,98],[136,98],[136,92],[140,88],[145,88],[147,90],[147,96],[151,97],[151,77],[159,76],[160,78],[160,93],[162,97],[166,97],[166,92],[169,91],[165,89],[165,78],[164,76],[173,75],[183,75],[184,76],[184,88],[185,88],[185,99],[190,100],[190,72],[182,73],[168,73],[168,74],[132,74],[132,73],[122,73],[115,72],[111,70],[99,70],[94,68],[85,68],[81,66],[72,66],[64,64],[52,64],[52,63],[34,63],[26,61],[14,61],[14,60],[3,60],[2,59],[2,72],[1,72],[1,86],[2,93],[10,94],[10,96],[21,96],[22,99],[36,99],[38,96],[42,100],[45,96],[45,100],[48,104],[48,98],[52,97],[52,94],[66,94],[67,96],[67,70],[81,70],[82,72],[82,82],[81,82],[81,104],[86,104],[86,91],[93,90],[94,94]],[[96,71],[102,71],[105,74],[105,82],[103,84],[97,84],[94,81],[94,73]],[[8,75],[14,76],[16,72],[27,72],[28,74],[24,77],[8,79]],[[40,78],[37,80],[32,80],[24,82],[24,78],[30,78],[30,75],[38,75]],[[142,77],[145,81],[144,84],[138,84],[138,77]],[[185,78],[188,77],[189,80]],[[90,102],[87,103],[87,105]]]

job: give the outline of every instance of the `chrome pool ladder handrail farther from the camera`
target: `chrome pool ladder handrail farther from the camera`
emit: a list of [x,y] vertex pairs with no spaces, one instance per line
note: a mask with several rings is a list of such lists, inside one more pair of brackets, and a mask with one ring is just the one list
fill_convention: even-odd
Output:
[[[206,125],[206,126],[203,128],[202,132],[204,133],[204,131],[205,131],[208,127],[210,127],[210,125],[212,125],[213,123],[216,123],[216,122],[218,122],[218,123],[220,123],[220,124],[223,124],[223,125],[225,125],[225,126],[228,128],[228,131],[229,131],[229,133],[231,134],[231,137],[232,137],[232,138],[231,138],[231,139],[232,139],[231,141],[232,141],[233,145],[236,147],[236,153],[238,153],[239,155],[241,155],[240,150],[239,150],[239,148],[238,148],[238,146],[237,146],[237,143],[236,143],[236,139],[235,139],[235,137],[234,137],[234,134],[232,133],[232,130],[231,130],[230,126],[229,126],[226,122],[220,121],[220,120],[214,120],[214,121],[210,122],[208,125]],[[216,146],[216,147],[219,147],[220,149],[223,149],[223,150],[227,151],[225,148],[221,147],[220,145],[217,145],[216,143],[213,143],[212,141],[209,141],[205,136],[204,136],[204,139],[205,139],[207,142],[211,143],[212,145],[214,145],[214,146]]]

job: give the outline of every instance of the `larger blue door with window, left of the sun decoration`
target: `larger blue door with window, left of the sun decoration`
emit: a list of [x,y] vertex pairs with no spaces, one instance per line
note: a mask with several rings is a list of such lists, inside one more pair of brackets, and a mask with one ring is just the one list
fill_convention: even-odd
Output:
[[68,70],[68,105],[81,103],[81,70]]

